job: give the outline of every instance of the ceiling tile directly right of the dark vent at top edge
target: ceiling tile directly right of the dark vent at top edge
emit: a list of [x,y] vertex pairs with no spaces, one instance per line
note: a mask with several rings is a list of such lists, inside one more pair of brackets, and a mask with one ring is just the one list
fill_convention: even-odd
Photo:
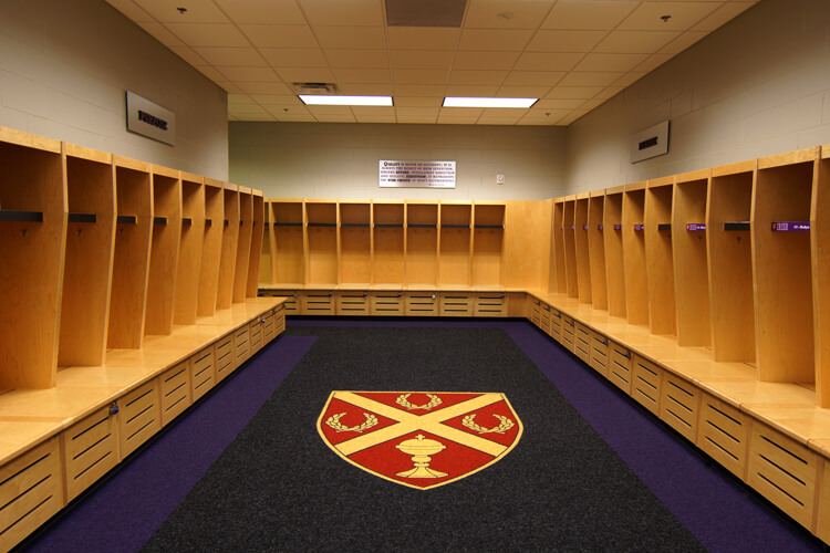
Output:
[[465,29],[537,29],[554,0],[469,0]]

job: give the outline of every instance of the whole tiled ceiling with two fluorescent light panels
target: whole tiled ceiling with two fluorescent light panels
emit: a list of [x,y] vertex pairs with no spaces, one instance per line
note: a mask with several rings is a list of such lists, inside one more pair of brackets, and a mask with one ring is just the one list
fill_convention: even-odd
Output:
[[[229,121],[569,125],[758,0],[106,1],[225,88]],[[449,4],[460,27],[406,27],[453,24]],[[305,106],[309,82],[395,105]]]

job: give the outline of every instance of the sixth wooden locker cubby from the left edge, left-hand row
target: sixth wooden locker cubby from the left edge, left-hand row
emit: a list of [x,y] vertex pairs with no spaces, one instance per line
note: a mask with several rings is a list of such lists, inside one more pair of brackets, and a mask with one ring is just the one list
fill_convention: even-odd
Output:
[[205,179],[205,236],[199,264],[199,303],[196,314],[210,316],[216,312],[219,293],[219,265],[225,232],[225,192],[218,180]]

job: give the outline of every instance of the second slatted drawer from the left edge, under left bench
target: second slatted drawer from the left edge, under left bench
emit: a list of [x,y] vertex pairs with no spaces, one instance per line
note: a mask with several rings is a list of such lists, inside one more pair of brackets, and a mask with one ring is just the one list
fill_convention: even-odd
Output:
[[118,415],[103,407],[63,431],[66,501],[72,501],[121,460]]

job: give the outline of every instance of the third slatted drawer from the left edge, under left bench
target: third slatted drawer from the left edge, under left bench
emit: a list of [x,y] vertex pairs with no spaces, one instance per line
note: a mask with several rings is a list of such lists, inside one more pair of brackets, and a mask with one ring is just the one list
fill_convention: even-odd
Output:
[[118,399],[122,459],[162,429],[158,401],[158,383],[155,378]]

